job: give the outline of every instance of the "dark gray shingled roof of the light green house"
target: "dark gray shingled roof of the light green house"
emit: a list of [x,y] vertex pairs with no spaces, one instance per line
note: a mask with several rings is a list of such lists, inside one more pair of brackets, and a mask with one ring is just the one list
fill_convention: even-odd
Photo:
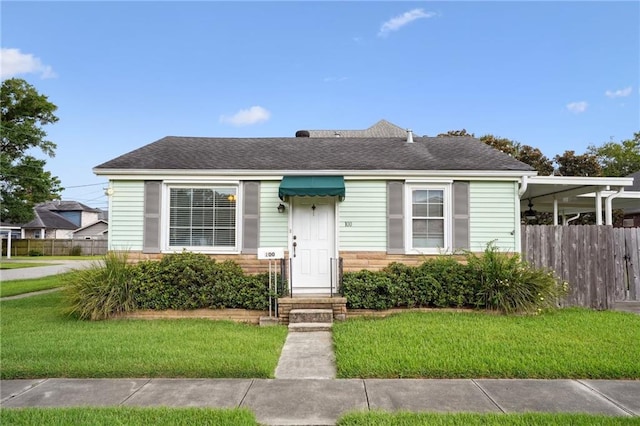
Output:
[[533,170],[473,138],[167,136],[97,166],[132,170]]

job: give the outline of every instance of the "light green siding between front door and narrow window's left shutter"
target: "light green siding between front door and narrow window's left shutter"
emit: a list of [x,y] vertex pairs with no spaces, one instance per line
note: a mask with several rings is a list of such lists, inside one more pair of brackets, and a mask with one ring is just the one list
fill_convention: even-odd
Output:
[[[385,181],[346,181],[339,202],[340,250],[387,249],[387,186]],[[350,225],[350,226],[349,226]]]

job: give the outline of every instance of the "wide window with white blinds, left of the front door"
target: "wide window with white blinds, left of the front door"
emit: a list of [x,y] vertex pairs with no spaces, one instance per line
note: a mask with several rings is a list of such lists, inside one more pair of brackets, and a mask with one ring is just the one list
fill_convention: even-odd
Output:
[[169,246],[236,247],[236,188],[170,188]]

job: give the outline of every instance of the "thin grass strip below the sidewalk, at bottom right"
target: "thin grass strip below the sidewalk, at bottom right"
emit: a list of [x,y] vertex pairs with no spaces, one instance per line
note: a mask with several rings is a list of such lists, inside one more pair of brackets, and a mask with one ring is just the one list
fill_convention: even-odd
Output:
[[338,426],[617,426],[638,425],[638,417],[610,417],[590,414],[524,413],[524,414],[439,414],[439,413],[348,413]]

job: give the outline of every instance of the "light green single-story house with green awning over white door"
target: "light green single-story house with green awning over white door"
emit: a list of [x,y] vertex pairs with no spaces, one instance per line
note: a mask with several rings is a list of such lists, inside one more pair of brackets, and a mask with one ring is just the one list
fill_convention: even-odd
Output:
[[258,248],[284,248],[298,294],[335,291],[340,268],[417,264],[492,241],[520,251],[520,185],[536,174],[477,139],[407,131],[168,136],[94,172],[109,179],[111,250],[190,250],[255,272]]

